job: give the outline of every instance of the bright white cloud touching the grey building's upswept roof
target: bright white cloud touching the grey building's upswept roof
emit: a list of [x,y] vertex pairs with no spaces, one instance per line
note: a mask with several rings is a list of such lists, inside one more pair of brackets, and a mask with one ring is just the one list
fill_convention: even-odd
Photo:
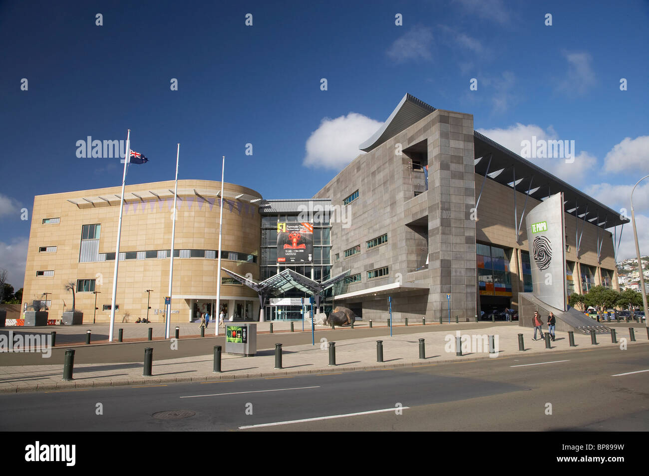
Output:
[[336,119],[325,117],[306,141],[303,164],[316,169],[342,170],[361,153],[358,145],[382,125],[355,112]]

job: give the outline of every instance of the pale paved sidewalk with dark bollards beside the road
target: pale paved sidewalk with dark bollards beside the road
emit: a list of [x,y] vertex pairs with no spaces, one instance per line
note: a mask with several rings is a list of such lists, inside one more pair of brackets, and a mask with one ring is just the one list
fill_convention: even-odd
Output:
[[[137,324],[136,324],[137,325]],[[301,326],[300,326],[301,327]],[[425,327],[421,327],[422,330]],[[437,328],[439,329],[439,327]],[[296,329],[297,330],[297,329]],[[323,342],[289,346],[283,349],[281,370],[276,370],[275,350],[260,349],[255,357],[228,355],[223,348],[221,374],[215,374],[212,355],[185,357],[156,361],[153,356],[153,376],[142,377],[143,366],[139,363],[123,364],[79,364],[74,368],[73,381],[62,381],[62,365],[5,366],[0,367],[0,393],[31,392],[34,390],[69,390],[71,388],[113,387],[118,385],[156,385],[190,381],[219,381],[254,377],[281,377],[284,375],[323,374],[350,370],[376,370],[381,368],[417,367],[444,362],[474,361],[489,359],[488,348],[483,335],[498,338],[497,357],[539,354],[546,359],[553,351],[569,350],[567,333],[557,332],[551,348],[545,348],[545,340],[532,340],[533,329],[512,327],[482,327],[457,331],[469,348],[464,355],[456,356],[456,331],[448,333],[421,332],[408,335],[383,337],[384,363],[376,362],[376,338],[343,340],[336,344],[336,366],[329,366],[328,344]],[[518,334],[524,335],[525,351],[519,351]],[[419,359],[419,339],[425,339],[426,359]],[[649,343],[646,330],[637,328],[635,339],[630,342],[629,333],[618,329],[618,344],[611,343],[610,335],[598,335],[596,346],[588,335],[574,335],[576,349],[599,349],[619,347],[626,339],[627,346]],[[58,341],[58,336],[57,336]],[[468,352],[467,352],[468,350]],[[496,357],[496,358],[497,358]],[[552,357],[550,357],[552,358]]]

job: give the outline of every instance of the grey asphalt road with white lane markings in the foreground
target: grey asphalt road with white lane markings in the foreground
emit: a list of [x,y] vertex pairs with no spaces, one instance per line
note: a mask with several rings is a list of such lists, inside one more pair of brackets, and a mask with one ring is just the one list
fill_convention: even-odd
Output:
[[[4,394],[0,429],[647,431],[647,371],[643,345],[408,369]],[[166,411],[175,418],[156,418]]]

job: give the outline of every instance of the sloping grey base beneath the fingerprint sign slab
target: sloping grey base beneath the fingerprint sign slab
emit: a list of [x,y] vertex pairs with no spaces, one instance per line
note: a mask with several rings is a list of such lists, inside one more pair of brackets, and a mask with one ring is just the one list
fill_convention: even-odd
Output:
[[557,324],[556,330],[567,332],[574,331],[580,334],[590,335],[591,329],[596,334],[609,334],[611,329],[606,326],[601,326],[593,318],[580,313],[574,307],[569,307],[567,311],[561,311],[551,305],[546,304],[539,298],[535,297],[532,292],[519,293],[519,326],[534,327],[532,324],[532,316],[534,311],[539,311],[543,318],[544,327],[546,326],[547,317],[550,312],[554,313]]

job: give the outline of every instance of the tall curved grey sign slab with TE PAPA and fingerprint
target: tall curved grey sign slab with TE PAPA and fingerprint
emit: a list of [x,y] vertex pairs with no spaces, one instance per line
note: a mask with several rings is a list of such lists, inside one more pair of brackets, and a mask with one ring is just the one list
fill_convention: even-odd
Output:
[[533,294],[546,304],[567,311],[563,218],[563,193],[557,193],[530,210],[526,228]]

